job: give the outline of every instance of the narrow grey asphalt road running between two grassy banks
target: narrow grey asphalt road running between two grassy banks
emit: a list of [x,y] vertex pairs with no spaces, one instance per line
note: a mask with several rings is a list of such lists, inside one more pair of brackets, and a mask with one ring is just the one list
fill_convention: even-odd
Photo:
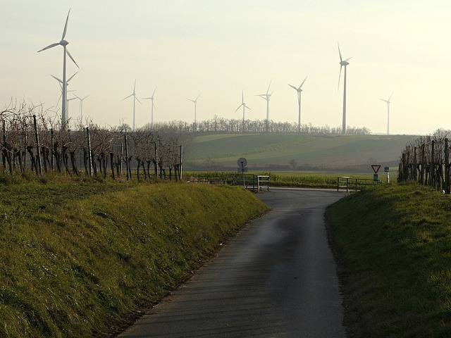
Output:
[[343,193],[258,196],[273,210],[119,337],[346,337],[323,223]]

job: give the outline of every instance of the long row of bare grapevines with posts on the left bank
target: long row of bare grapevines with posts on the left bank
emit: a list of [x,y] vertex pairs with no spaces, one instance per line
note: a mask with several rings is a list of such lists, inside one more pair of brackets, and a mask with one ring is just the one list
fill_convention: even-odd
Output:
[[1,164],[4,172],[37,175],[49,171],[68,175],[137,175],[178,180],[183,149],[178,139],[150,130],[130,132],[126,125],[101,128],[78,121],[61,127],[59,119],[27,104],[11,101],[0,112]]

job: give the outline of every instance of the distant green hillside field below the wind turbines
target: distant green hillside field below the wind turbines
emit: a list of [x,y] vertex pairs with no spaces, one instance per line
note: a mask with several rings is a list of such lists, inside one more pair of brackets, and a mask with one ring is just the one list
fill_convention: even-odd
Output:
[[[250,170],[361,170],[371,164],[395,166],[412,135],[209,134],[194,137],[185,156],[186,170],[236,167],[247,158]],[[371,170],[371,168],[370,168]]]

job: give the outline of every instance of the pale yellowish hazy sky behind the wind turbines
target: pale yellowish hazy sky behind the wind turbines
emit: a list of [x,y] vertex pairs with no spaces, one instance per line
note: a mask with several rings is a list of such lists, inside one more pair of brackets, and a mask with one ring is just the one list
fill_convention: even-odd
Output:
[[[391,134],[451,129],[451,1],[449,0],[18,0],[2,1],[0,108],[11,98],[56,105],[66,40],[69,82],[83,115],[100,125],[136,125],[214,118],[266,118],[264,94],[272,79],[269,118],[297,123],[295,86],[302,89],[302,123],[338,127],[342,121],[340,58],[347,67],[347,125]],[[71,94],[68,94],[71,97]],[[61,111],[61,104],[57,108]],[[79,115],[78,100],[69,115]]]

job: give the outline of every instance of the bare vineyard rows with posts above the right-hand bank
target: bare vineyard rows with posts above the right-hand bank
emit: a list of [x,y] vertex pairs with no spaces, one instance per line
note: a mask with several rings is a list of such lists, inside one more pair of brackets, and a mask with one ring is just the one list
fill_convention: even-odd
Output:
[[398,182],[414,180],[450,194],[449,131],[437,130],[408,144],[400,158]]

